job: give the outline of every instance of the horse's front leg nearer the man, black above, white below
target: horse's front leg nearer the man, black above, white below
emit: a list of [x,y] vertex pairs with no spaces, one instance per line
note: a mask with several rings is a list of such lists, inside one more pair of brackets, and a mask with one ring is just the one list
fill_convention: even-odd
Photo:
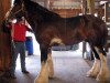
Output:
[[38,76],[35,79],[34,83],[48,83],[48,63],[47,63],[47,48],[41,48],[41,71]]

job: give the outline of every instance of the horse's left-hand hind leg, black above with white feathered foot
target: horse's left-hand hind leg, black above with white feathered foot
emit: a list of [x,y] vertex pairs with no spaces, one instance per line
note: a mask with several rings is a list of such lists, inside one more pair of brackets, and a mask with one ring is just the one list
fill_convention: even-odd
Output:
[[92,68],[87,72],[87,76],[96,77],[100,71],[100,58],[94,46],[91,46],[91,50],[95,55],[95,62],[94,62]]

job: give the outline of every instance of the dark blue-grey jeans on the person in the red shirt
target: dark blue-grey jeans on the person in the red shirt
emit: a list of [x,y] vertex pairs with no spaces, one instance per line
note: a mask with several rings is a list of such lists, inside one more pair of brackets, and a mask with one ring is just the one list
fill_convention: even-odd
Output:
[[25,69],[25,43],[24,42],[12,42],[12,54],[11,54],[11,65],[10,73],[14,74],[16,66],[18,54],[20,53],[21,59],[21,70]]

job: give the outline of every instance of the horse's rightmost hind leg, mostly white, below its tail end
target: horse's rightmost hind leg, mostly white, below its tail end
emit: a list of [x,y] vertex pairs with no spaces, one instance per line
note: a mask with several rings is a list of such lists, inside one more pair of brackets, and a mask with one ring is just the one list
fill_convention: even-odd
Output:
[[108,66],[107,66],[107,54],[106,51],[102,48],[95,46],[96,51],[99,54],[100,61],[101,61],[101,69],[99,74],[97,75],[97,81],[106,81],[107,74],[108,74]]

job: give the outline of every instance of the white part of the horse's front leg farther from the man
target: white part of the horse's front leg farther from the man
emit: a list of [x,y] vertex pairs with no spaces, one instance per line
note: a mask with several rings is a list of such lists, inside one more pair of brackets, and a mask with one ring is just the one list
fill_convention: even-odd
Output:
[[48,53],[47,55],[47,64],[48,64],[48,77],[54,76],[54,66],[53,66],[53,60],[52,60],[52,53]]

